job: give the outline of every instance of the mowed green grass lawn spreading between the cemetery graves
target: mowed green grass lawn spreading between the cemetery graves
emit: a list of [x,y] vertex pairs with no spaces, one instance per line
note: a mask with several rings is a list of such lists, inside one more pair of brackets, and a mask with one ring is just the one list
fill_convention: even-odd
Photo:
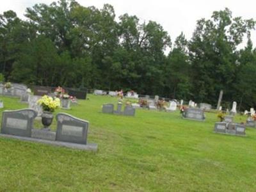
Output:
[[[256,129],[246,137],[216,134],[216,113],[206,113],[205,122],[184,120],[179,111],[102,114],[102,104],[116,98],[88,97],[56,113],[88,120],[88,142],[98,151],[0,138],[0,191],[256,191]],[[1,99],[4,109],[28,107]]]

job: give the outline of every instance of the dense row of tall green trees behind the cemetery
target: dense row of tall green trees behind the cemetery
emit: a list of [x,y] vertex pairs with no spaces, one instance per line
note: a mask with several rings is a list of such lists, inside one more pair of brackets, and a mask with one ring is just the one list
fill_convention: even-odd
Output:
[[[200,19],[191,40],[170,36],[154,21],[72,0],[36,4],[26,20],[0,15],[0,72],[6,81],[45,86],[135,90],[216,106],[218,93],[243,108],[256,106],[255,21],[227,8]],[[239,45],[247,40],[244,49]],[[166,56],[166,48],[170,52]],[[167,49],[167,50],[169,50]],[[244,102],[246,101],[246,102]]]

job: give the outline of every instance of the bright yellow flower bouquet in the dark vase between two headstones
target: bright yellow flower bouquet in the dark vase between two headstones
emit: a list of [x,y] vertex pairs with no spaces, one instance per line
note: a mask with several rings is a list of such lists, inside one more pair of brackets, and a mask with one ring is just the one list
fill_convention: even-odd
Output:
[[42,106],[44,111],[54,112],[55,109],[60,107],[60,99],[52,98],[44,95],[41,99],[37,101],[40,106]]

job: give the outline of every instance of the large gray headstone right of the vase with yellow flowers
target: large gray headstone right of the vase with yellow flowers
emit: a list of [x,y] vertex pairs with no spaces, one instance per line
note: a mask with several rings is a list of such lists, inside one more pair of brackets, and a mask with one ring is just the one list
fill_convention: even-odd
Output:
[[56,115],[57,132],[56,141],[65,141],[70,143],[87,143],[87,133],[89,122],[81,120],[66,113]]

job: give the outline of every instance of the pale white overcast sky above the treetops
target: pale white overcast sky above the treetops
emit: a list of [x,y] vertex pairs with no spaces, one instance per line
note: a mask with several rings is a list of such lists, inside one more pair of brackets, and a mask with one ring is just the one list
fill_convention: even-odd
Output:
[[[52,0],[53,1],[53,0]],[[2,0],[0,13],[13,10],[24,19],[25,10],[36,3],[50,4],[48,0]],[[212,12],[229,8],[233,17],[241,16],[243,19],[256,19],[255,0],[77,0],[83,6],[102,8],[109,3],[114,6],[116,19],[124,14],[136,15],[141,21],[154,20],[168,31],[174,42],[175,38],[184,32],[186,38],[191,38],[196,26],[196,20],[209,19]],[[253,31],[252,40],[256,45],[256,32]]]

